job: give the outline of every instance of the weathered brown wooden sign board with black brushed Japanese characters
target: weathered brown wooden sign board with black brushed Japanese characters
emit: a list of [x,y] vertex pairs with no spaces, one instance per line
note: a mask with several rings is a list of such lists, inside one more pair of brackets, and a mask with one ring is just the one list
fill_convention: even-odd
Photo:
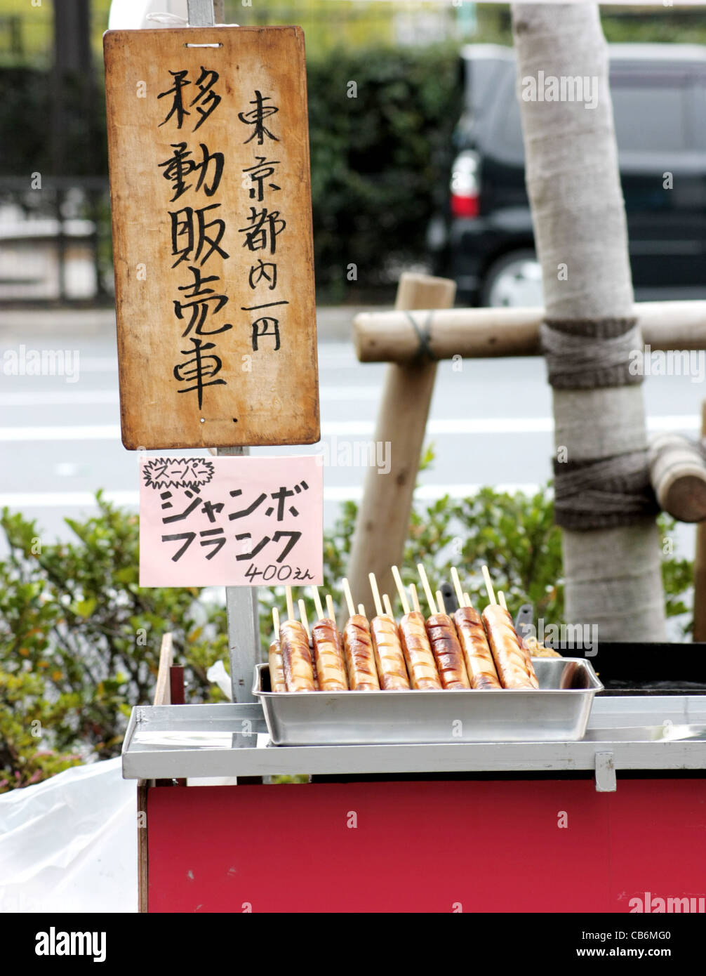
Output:
[[103,49],[124,445],[318,441],[301,28]]

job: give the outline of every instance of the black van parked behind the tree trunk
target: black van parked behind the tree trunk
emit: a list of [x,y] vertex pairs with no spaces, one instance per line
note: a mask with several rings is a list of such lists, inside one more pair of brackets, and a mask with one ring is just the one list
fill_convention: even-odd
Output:
[[[706,47],[612,44],[610,93],[638,301],[706,297]],[[465,109],[436,274],[461,305],[541,305],[512,48],[461,52]],[[670,183],[672,188],[665,188]]]

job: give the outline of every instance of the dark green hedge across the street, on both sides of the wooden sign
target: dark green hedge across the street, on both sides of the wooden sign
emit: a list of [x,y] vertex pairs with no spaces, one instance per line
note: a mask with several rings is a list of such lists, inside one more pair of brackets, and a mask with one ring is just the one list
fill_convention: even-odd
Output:
[[[447,192],[451,133],[460,113],[458,55],[427,49],[333,51],[309,61],[308,97],[316,280],[342,301],[356,285],[389,279],[391,263],[423,257],[426,225]],[[357,86],[355,98],[349,98]],[[66,167],[105,175],[102,91],[67,83]],[[85,110],[82,105],[92,105]],[[0,176],[57,175],[52,159],[51,76],[0,70]],[[387,272],[387,273],[386,273]]]

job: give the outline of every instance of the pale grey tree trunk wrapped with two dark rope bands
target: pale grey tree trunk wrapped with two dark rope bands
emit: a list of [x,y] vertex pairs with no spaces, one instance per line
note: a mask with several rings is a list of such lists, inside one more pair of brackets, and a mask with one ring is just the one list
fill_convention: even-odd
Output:
[[[512,15],[526,179],[549,323],[543,347],[553,353],[556,341],[564,356],[561,382],[552,376],[556,358],[547,361],[557,520],[565,527],[566,618],[598,625],[599,641],[662,640],[656,506],[643,484],[645,407],[641,386],[628,377],[629,345],[642,348],[642,340],[631,330],[627,228],[598,7],[514,4]],[[576,77],[589,83],[583,101],[548,100],[549,79]],[[536,85],[534,101],[528,79]],[[583,366],[571,376],[577,363]],[[596,472],[604,459],[617,466],[609,483]],[[578,494],[567,514],[559,481],[569,468]],[[594,490],[586,490],[588,468]],[[603,527],[591,527],[597,522]]]

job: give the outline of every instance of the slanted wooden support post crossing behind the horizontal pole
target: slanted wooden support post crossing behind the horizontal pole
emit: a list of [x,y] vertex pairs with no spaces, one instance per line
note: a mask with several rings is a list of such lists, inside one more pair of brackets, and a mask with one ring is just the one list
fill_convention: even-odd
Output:
[[[397,288],[395,314],[406,318],[406,309],[449,308],[454,296],[453,281],[404,273]],[[371,572],[380,590],[389,592],[393,586],[390,566],[402,561],[435,378],[436,362],[429,358],[387,367],[374,438],[390,443],[390,470],[385,475],[369,468],[366,474],[348,564],[356,602],[367,596]]]

